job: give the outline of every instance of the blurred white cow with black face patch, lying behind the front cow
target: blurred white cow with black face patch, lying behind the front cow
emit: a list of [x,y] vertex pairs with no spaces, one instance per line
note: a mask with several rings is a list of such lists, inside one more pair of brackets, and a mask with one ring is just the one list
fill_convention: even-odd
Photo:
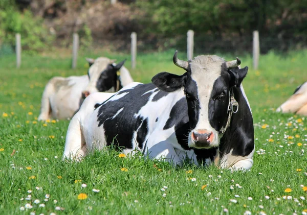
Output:
[[38,120],[71,118],[91,93],[115,92],[133,82],[123,66],[125,61],[115,64],[115,60],[104,57],[87,61],[90,64],[88,75],[54,77],[48,82],[42,94]]

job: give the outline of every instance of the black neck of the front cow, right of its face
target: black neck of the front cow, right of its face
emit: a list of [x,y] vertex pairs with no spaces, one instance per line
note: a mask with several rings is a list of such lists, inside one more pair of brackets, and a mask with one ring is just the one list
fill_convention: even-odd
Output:
[[231,116],[230,126],[220,140],[220,155],[248,155],[254,148],[252,113],[240,87],[233,87],[234,98],[239,104],[237,113]]

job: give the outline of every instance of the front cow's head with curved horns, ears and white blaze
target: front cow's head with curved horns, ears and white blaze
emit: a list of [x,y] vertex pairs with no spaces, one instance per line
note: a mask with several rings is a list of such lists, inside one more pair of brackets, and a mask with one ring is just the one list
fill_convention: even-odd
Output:
[[239,69],[238,58],[226,62],[216,55],[201,55],[187,62],[177,58],[177,51],[173,62],[186,73],[182,76],[159,73],[152,78],[153,84],[167,92],[184,90],[191,129],[189,147],[217,147],[218,134],[228,121],[230,88],[241,84],[248,67]]

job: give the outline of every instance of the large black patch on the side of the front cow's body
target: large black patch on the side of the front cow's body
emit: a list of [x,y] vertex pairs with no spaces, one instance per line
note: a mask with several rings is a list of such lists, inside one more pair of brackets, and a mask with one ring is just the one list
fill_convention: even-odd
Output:
[[[109,101],[117,95],[115,94],[100,104],[97,121],[99,122],[98,126],[103,125],[107,145],[111,145],[114,141],[114,144],[119,147],[132,149],[133,142],[137,141],[139,146],[143,147],[148,133],[148,120],[142,116],[136,117],[135,114],[138,114],[140,109],[149,101],[154,88],[156,87],[153,84],[140,84],[132,89],[117,93],[128,92],[124,97]],[[122,108],[123,110],[118,113]],[[113,118],[114,115],[116,117]],[[137,131],[137,139],[133,139],[135,131]]]

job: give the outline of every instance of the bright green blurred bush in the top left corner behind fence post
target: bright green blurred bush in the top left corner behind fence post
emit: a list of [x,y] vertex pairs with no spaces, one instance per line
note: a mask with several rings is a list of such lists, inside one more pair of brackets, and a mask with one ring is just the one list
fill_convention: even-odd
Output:
[[31,11],[23,13],[13,1],[0,1],[0,43],[15,45],[15,34],[21,34],[21,47],[27,52],[48,49],[53,37],[43,25],[42,18],[34,17]]

